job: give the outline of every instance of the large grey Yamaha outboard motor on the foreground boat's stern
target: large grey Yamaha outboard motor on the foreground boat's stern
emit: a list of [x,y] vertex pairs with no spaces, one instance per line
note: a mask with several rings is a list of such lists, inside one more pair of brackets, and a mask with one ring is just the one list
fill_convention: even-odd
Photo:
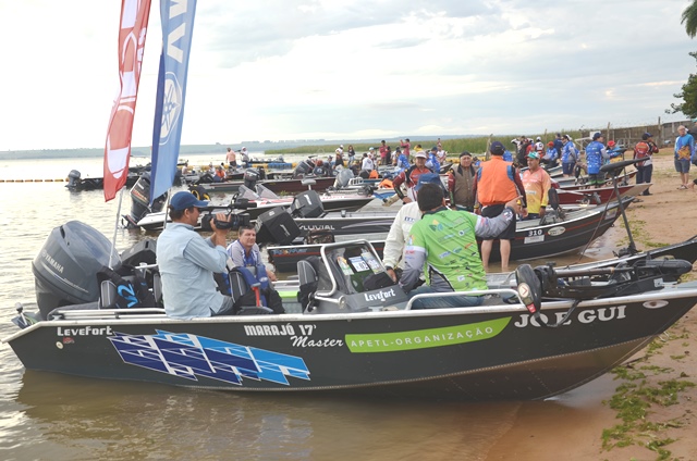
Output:
[[70,221],[53,228],[32,263],[36,302],[42,319],[56,308],[99,300],[97,272],[121,266],[111,242],[95,228]]

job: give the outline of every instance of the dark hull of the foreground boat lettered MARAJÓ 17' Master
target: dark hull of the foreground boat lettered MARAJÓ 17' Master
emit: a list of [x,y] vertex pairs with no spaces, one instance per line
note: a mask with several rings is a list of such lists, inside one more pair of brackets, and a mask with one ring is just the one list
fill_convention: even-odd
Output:
[[[539,326],[519,304],[193,321],[114,315],[39,322],[4,341],[27,369],[107,379],[236,391],[541,399],[611,370],[696,302],[694,286],[584,301],[558,328]],[[545,303],[542,314],[554,322],[570,307]]]

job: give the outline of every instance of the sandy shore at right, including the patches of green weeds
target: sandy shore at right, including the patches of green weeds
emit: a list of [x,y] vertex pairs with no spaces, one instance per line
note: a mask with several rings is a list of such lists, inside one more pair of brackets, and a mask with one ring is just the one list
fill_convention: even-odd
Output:
[[[673,169],[672,149],[661,150],[653,164],[652,196],[641,197],[643,201],[627,211],[639,250],[697,234],[697,192],[677,189],[680,178]],[[696,170],[693,166],[692,177]],[[620,223],[621,220],[616,225]],[[627,239],[615,244],[622,248]],[[697,279],[697,271],[693,269],[686,279]],[[555,410],[568,418],[558,414],[551,419],[555,426],[546,427],[547,419],[539,406],[523,403],[517,420],[501,437],[505,444],[493,447],[486,459],[697,460],[696,338],[697,311],[693,308],[621,370],[625,377],[612,375],[615,381],[611,386],[623,386],[615,390],[614,404],[603,401],[602,408],[585,412]],[[622,414],[633,411],[634,416],[643,418],[627,416],[623,421]]]

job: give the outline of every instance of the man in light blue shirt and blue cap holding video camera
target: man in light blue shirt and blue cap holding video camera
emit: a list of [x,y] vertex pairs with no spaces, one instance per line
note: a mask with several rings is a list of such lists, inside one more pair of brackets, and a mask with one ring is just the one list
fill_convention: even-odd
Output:
[[[227,273],[225,236],[215,220],[213,234],[204,239],[194,230],[200,208],[208,202],[193,194],[180,191],[170,201],[171,224],[157,239],[157,263],[162,276],[164,311],[173,319],[207,317],[232,313],[232,298],[217,290],[215,273]],[[218,213],[219,221],[230,221]]]

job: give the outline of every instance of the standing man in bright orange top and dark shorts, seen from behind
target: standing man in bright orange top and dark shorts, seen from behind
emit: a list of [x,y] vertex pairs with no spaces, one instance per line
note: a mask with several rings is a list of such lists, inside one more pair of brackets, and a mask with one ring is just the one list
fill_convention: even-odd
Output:
[[[479,165],[475,176],[475,212],[482,216],[494,217],[505,210],[505,204],[516,197],[522,197],[523,217],[527,215],[525,187],[515,167],[503,161],[505,148],[499,141],[491,142],[489,149],[491,160]],[[496,237],[496,236],[494,236]],[[511,257],[511,240],[515,238],[515,220],[498,236],[501,253],[501,270],[508,272]],[[493,247],[493,238],[481,242],[481,262],[485,271],[489,270],[489,257]]]

